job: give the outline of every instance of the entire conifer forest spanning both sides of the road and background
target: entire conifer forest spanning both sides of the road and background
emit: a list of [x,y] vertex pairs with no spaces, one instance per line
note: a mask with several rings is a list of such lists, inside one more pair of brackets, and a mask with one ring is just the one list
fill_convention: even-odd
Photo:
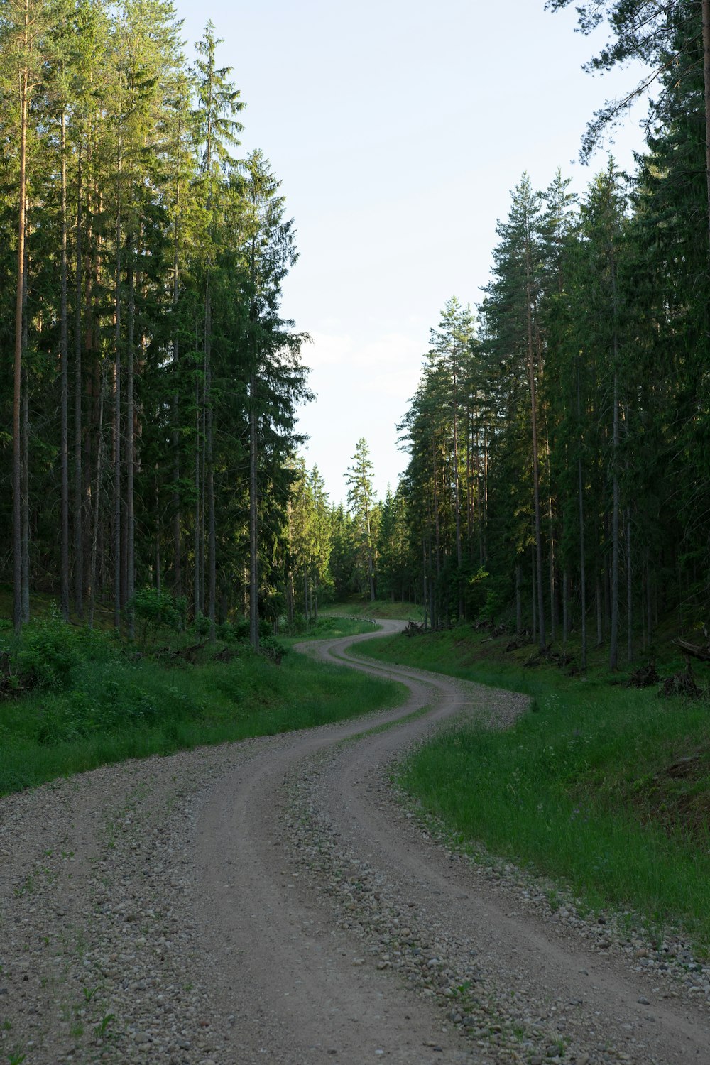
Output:
[[[555,10],[566,0],[550,0]],[[378,499],[365,438],[333,505],[299,456],[307,335],[278,178],[238,157],[243,101],[208,22],[169,2],[0,9],[0,579],[133,636],[136,596],[205,630],[294,627],[359,595],[427,625],[506,619],[544,649],[691,634],[710,596],[710,19],[706,0],[582,4],[590,62],[651,75],[635,170],[585,193],[523,175],[491,279],[451,296]],[[425,343],[423,343],[425,347]],[[14,353],[11,357],[10,353]]]

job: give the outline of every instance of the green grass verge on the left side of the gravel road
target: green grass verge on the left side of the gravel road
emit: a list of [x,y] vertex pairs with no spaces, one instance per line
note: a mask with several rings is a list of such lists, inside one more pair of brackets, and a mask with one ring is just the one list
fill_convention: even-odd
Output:
[[0,701],[0,794],[126,758],[273,735],[397,705],[403,689],[287,654],[161,666],[117,650],[75,667],[64,691]]

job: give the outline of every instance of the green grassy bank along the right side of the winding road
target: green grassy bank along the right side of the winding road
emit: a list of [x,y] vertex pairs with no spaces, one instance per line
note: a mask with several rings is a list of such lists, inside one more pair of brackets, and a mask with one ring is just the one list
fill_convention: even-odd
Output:
[[507,654],[508,640],[461,627],[359,649],[533,700],[508,732],[455,726],[415,751],[404,789],[460,841],[551,876],[593,910],[678,924],[707,952],[708,702],[612,685],[600,660],[585,677],[526,668],[534,649]]

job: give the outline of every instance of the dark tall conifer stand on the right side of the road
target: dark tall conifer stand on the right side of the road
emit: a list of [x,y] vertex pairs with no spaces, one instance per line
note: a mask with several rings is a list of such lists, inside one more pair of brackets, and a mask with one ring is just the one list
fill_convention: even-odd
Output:
[[[708,618],[710,19],[606,6],[616,38],[590,67],[651,75],[594,116],[582,155],[655,81],[646,150],[579,198],[559,171],[543,191],[522,176],[476,314],[451,297],[431,330],[377,554],[383,590],[434,627],[508,617],[541,649],[574,630],[581,666],[593,643],[613,670],[660,619]],[[584,32],[604,9],[579,9]]]

